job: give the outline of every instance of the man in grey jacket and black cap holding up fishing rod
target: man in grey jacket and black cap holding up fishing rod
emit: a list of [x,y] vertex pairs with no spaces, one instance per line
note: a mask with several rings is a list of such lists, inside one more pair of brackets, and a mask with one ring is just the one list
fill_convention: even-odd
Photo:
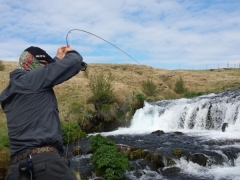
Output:
[[7,180],[76,180],[69,161],[61,157],[63,140],[53,87],[86,70],[82,60],[70,46],[60,47],[53,59],[33,46],[21,54],[0,95],[10,140]]

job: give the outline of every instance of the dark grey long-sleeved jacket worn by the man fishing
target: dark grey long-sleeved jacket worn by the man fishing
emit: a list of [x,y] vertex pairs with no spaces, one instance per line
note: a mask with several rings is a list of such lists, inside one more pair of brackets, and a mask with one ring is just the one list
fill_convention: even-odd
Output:
[[82,56],[76,51],[32,71],[16,69],[0,95],[7,116],[11,157],[33,147],[51,145],[63,152],[63,140],[53,86],[76,75]]

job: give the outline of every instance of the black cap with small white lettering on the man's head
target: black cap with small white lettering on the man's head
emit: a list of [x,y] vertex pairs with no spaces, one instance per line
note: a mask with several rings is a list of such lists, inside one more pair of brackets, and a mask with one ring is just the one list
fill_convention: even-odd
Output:
[[31,53],[37,60],[45,60],[48,63],[55,62],[55,60],[52,59],[52,57],[49,56],[46,53],[46,51],[44,51],[43,49],[41,49],[39,47],[31,46],[31,47],[25,49],[24,51]]

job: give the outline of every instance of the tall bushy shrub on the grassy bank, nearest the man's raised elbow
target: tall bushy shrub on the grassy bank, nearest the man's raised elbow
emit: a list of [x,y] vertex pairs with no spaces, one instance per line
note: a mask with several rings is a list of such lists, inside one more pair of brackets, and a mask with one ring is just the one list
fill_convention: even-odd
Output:
[[113,81],[114,76],[111,73],[104,75],[101,72],[90,77],[89,86],[93,93],[92,99],[97,110],[101,109],[103,104],[112,104],[114,102]]

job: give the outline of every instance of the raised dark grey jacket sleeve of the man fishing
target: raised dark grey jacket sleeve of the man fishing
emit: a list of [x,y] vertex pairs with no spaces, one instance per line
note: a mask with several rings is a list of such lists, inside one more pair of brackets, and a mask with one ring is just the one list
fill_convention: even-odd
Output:
[[82,56],[77,51],[68,51],[60,60],[54,58],[55,62],[46,66],[38,67],[26,74],[27,81],[33,90],[53,87],[79,73]]

